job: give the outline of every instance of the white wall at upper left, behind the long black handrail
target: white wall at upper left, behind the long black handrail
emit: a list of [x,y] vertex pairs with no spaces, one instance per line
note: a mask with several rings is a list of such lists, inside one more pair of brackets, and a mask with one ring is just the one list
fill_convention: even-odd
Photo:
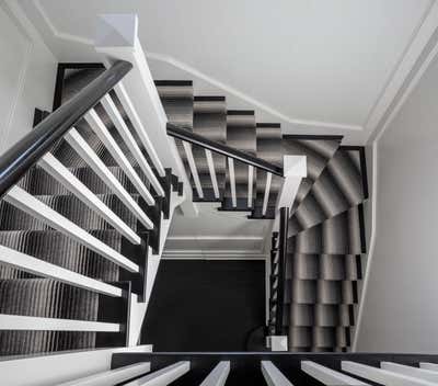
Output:
[[57,59],[14,1],[0,3],[0,154],[51,111]]

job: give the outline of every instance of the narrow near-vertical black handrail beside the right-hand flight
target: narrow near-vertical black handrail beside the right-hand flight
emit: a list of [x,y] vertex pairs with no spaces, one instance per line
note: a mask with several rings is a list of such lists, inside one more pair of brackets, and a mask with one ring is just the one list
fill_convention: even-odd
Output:
[[280,208],[280,226],[278,235],[278,285],[277,285],[277,309],[275,315],[275,333],[284,333],[283,317],[285,308],[285,282],[286,282],[286,258],[288,235],[289,208]]

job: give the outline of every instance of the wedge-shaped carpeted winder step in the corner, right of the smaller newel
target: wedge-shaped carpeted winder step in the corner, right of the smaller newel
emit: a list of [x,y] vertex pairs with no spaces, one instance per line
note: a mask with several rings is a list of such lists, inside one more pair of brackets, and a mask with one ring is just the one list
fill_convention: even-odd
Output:
[[295,232],[359,205],[367,198],[362,171],[351,151],[338,149],[291,217]]

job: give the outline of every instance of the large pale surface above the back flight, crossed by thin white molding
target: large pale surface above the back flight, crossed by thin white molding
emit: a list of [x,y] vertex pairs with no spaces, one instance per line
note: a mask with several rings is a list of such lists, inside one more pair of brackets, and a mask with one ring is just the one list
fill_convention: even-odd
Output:
[[254,109],[257,120],[280,122],[285,133],[343,134],[357,145],[403,87],[437,7],[433,0],[20,3],[62,59],[72,59],[73,43],[92,44],[96,14],[137,13],[155,78],[193,79],[197,93],[224,94],[231,107]]

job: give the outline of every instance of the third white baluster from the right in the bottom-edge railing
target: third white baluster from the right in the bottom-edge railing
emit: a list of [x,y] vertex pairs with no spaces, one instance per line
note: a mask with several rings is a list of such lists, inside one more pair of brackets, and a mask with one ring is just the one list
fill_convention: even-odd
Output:
[[388,370],[368,366],[356,362],[342,361],[341,368],[344,372],[385,386],[436,386],[436,383],[433,382],[427,382],[414,376],[402,375]]

